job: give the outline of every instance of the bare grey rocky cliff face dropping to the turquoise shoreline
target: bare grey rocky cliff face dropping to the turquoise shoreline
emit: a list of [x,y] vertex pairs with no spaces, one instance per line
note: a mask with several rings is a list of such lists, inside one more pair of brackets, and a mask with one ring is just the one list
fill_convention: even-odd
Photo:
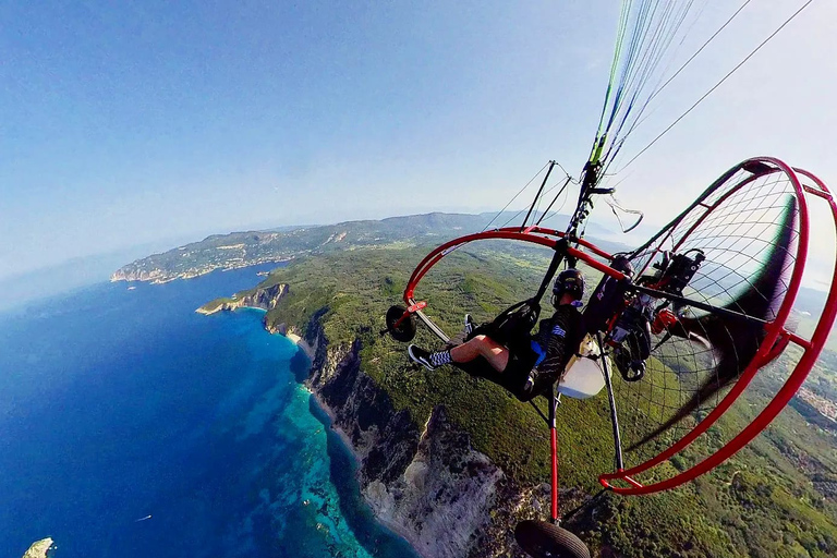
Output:
[[548,513],[548,486],[518,486],[441,405],[420,428],[363,372],[359,340],[330,345],[316,318],[307,331],[317,350],[305,384],[353,450],[376,517],[427,558],[525,556],[513,527]]

